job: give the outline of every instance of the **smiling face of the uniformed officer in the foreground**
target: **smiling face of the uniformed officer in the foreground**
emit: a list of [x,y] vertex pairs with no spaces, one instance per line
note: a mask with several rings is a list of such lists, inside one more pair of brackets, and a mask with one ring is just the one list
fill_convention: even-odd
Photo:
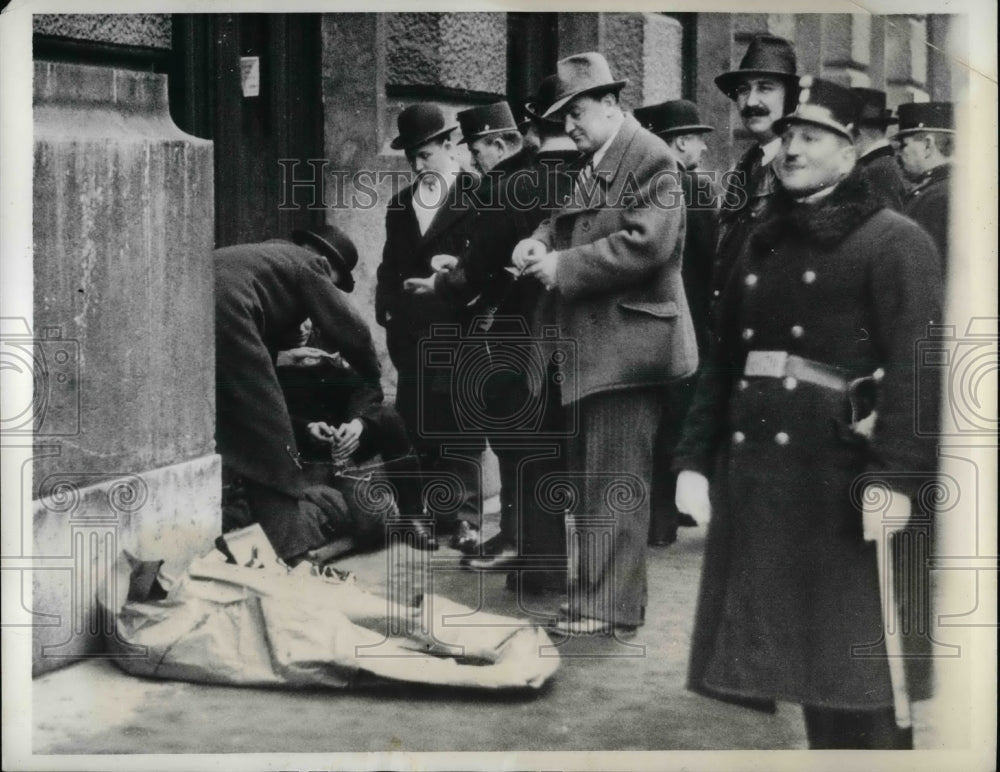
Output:
[[785,189],[802,197],[847,176],[854,161],[854,146],[839,134],[808,123],[793,123],[781,135],[774,169]]

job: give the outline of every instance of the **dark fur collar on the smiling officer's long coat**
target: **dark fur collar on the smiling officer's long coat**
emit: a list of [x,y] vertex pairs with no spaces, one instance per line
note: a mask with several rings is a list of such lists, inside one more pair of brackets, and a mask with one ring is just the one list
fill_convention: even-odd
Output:
[[763,251],[788,238],[833,247],[884,206],[859,168],[815,204],[798,203],[779,185],[771,216],[754,231],[751,243]]

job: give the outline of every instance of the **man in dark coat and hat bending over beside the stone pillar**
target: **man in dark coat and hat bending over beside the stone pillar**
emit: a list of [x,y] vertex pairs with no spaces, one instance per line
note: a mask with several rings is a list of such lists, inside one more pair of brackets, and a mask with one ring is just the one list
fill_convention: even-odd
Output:
[[[227,477],[243,484],[251,520],[288,562],[322,559],[336,534],[328,497],[307,484],[275,370],[278,351],[305,319],[371,388],[380,368],[368,326],[345,292],[357,250],[332,225],[217,249],[215,268],[216,446]],[[419,514],[419,513],[407,513]]]

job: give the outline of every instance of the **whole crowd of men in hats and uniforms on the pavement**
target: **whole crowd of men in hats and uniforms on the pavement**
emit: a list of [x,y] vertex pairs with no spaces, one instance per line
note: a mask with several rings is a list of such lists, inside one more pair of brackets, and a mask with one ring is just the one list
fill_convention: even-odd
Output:
[[[469,570],[565,592],[554,633],[627,638],[648,545],[707,522],[690,688],[797,702],[813,747],[905,747],[898,695],[925,695],[926,673],[901,684],[852,646],[883,637],[864,502],[885,486],[905,523],[934,473],[912,416],[936,384],[914,351],[940,321],[951,105],[893,114],[769,35],[715,82],[754,139],[721,190],[697,106],[627,112],[599,53],[558,62],[521,122],[506,102],[457,126],[434,104],[400,113],[414,178],[386,209],[375,301],[393,407],[347,234],[218,250],[224,528],[259,522],[289,564],[374,546],[387,523],[422,549],[450,536]],[[487,444],[501,519],[484,540]],[[350,473],[376,456],[389,510]]]

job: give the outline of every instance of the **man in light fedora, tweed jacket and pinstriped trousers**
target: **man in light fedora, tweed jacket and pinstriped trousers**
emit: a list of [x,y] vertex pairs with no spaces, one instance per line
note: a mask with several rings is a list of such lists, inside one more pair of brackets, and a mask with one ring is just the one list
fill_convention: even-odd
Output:
[[[598,53],[557,64],[543,117],[561,117],[583,154],[573,194],[514,250],[514,266],[547,292],[543,313],[575,341],[559,364],[561,399],[576,432],[567,440],[574,551],[569,604],[555,624],[567,635],[632,635],[646,603],[648,490],[663,387],[697,367],[681,280],[684,209],[677,164],[661,140],[623,113],[616,80]],[[627,489],[627,506],[609,489]],[[577,518],[584,518],[582,520]],[[606,543],[586,518],[613,523]]]

